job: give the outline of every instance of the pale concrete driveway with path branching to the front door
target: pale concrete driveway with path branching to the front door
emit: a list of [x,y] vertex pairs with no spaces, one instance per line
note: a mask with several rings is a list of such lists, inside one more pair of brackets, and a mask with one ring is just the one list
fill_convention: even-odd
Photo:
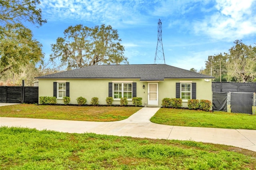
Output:
[[128,119],[116,122],[64,121],[0,117],[0,126],[48,129],[69,133],[94,132],[139,138],[193,140],[225,144],[256,152],[256,130],[178,127],[151,123],[159,108],[144,107]]

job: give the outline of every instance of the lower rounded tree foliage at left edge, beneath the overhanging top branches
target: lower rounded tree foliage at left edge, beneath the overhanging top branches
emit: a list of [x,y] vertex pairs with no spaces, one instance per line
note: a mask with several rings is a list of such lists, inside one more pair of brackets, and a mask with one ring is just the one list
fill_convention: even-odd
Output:
[[0,77],[8,70],[19,73],[28,63],[36,63],[43,56],[42,45],[32,40],[31,30],[20,27],[17,30],[10,28],[8,32],[15,35],[18,41],[0,40]]

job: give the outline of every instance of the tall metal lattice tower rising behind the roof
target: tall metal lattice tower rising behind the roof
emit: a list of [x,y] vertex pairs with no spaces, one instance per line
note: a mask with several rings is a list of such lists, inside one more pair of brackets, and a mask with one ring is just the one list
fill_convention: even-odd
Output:
[[162,22],[159,19],[158,20],[158,39],[157,39],[157,45],[156,45],[156,55],[155,55],[155,61],[154,64],[156,64],[156,61],[158,64],[165,63],[164,59],[164,49],[163,49],[163,43],[162,43]]

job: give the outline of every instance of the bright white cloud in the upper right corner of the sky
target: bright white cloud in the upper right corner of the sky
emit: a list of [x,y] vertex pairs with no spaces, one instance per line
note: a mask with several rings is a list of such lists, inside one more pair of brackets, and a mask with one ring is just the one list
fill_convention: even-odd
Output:
[[242,39],[256,33],[254,0],[217,0],[216,13],[194,23],[197,34],[217,40]]

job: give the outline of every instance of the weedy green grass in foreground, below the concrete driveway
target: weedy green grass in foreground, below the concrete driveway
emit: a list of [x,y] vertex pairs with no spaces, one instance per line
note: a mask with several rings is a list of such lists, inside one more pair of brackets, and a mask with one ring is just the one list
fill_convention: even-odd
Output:
[[256,152],[219,144],[0,128],[1,170],[252,170]]

